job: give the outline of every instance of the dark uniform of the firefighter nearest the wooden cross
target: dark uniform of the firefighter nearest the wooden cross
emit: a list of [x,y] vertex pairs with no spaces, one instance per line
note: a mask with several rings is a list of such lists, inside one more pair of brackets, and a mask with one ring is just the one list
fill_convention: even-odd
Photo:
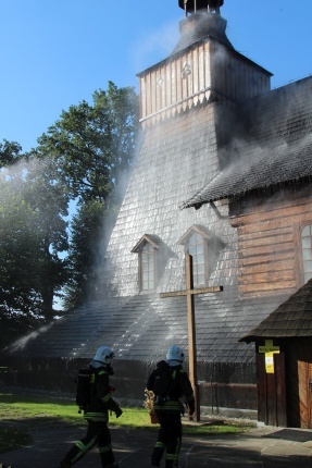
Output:
[[[174,352],[176,352],[175,348]],[[173,383],[170,385],[169,394],[165,398],[160,398],[155,395],[154,410],[160,422],[160,429],[151,455],[151,463],[152,466],[159,467],[165,452],[165,468],[175,468],[178,467],[182,444],[180,415],[184,414],[184,406],[180,403],[180,398],[185,398],[189,415],[195,411],[195,399],[189,378],[182,364],[179,364],[182,360],[167,360],[167,362],[171,366]],[[154,391],[155,378],[157,370],[150,374],[147,390]]]

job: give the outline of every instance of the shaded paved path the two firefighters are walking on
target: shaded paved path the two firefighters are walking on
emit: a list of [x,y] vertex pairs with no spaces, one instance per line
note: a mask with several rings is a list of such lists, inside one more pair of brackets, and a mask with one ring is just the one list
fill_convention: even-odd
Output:
[[[23,428],[23,422],[18,428]],[[13,468],[57,468],[64,453],[86,430],[43,419],[40,422],[37,419],[30,427],[29,421],[25,422],[24,429],[30,431],[34,442],[0,454],[0,464]],[[120,468],[150,467],[154,431],[111,428],[111,433]],[[183,468],[312,468],[312,431],[257,428],[240,435],[185,435],[180,464]],[[92,449],[76,467],[101,468],[97,451]]]

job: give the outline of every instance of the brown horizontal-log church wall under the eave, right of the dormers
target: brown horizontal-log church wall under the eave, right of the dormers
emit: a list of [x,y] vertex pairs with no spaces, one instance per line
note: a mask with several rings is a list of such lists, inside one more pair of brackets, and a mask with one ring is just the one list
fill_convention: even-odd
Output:
[[312,223],[309,186],[278,188],[234,202],[238,227],[239,291],[244,295],[295,292],[303,284],[300,229]]

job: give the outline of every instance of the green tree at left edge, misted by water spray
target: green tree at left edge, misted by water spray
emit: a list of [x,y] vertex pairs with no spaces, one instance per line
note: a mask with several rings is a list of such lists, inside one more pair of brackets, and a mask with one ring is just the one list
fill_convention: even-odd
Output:
[[[54,316],[66,281],[67,200],[50,160],[20,160],[0,171],[0,322],[10,337]],[[7,340],[8,334],[4,336]]]

